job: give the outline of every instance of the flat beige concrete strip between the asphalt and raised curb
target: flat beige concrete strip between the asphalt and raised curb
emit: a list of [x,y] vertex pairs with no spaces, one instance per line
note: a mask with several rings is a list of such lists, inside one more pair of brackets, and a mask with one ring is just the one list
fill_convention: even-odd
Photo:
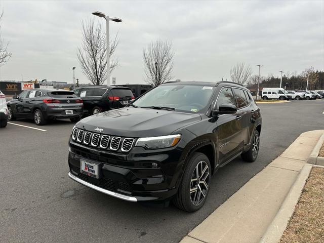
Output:
[[259,242],[323,133],[302,133],[180,243]]

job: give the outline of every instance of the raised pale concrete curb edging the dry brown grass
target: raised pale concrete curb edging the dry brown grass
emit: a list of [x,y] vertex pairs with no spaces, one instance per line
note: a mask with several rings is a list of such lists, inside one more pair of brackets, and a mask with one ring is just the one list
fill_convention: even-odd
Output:
[[262,236],[260,243],[276,243],[280,240],[295,211],[295,207],[306,184],[311,168],[312,165],[304,165],[279,211],[272,220],[265,234]]

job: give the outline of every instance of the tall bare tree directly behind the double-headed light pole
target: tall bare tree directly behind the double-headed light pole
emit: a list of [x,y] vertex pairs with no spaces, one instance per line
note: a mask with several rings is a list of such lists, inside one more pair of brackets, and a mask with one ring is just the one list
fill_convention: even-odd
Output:
[[[118,46],[118,33],[110,39],[110,57]],[[101,24],[95,21],[82,21],[82,47],[77,48],[77,59],[82,67],[82,72],[94,85],[102,85],[107,78],[106,61],[106,34],[102,31]],[[118,60],[110,59],[110,73],[118,65]]]

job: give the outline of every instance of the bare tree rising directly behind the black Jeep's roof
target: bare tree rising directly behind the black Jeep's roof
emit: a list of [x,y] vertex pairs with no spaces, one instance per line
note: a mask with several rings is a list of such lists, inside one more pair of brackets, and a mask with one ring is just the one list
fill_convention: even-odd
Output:
[[146,83],[158,86],[172,78],[174,52],[169,41],[155,41],[143,49]]

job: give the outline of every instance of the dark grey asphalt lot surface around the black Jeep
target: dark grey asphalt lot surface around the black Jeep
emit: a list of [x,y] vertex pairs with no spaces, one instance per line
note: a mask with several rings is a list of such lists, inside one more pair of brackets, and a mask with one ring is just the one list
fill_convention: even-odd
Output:
[[302,132],[324,127],[324,100],[259,106],[263,125],[257,161],[238,158],[221,168],[205,206],[195,213],[172,205],[144,207],[79,185],[67,176],[74,123],[58,120],[37,127],[29,120],[13,121],[0,129],[0,241],[178,242]]

